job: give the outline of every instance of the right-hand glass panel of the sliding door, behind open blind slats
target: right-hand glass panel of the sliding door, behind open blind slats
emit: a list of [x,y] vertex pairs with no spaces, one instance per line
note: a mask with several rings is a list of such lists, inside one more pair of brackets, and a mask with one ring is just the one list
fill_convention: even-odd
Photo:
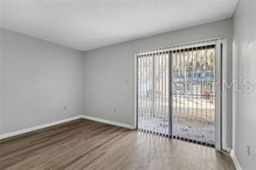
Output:
[[214,146],[214,45],[172,51],[172,135]]

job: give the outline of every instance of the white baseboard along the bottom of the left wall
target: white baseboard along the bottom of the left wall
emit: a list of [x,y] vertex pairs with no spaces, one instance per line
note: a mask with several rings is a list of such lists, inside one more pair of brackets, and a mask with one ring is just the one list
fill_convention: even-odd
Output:
[[0,135],[0,140],[5,139],[5,138],[9,138],[9,137],[13,137],[13,136],[16,136],[16,135],[22,135],[24,133],[35,131],[35,130],[38,130],[38,129],[48,128],[48,127],[54,126],[56,124],[67,123],[69,121],[73,121],[73,120],[76,120],[76,119],[79,119],[79,118],[83,118],[83,116],[82,115],[73,116],[73,117],[70,117],[70,118],[62,119],[60,121],[55,121],[53,123],[46,123],[46,124],[42,124],[42,125],[39,125],[39,126],[31,127],[31,128],[28,128],[28,129],[17,130],[17,131],[14,131],[14,132],[10,132],[10,133],[7,133],[7,134]]

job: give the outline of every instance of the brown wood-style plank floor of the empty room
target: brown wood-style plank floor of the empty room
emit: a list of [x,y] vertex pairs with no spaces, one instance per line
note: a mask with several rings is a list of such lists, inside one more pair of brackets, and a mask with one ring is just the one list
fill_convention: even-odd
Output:
[[227,154],[78,119],[0,141],[0,169],[235,169]]

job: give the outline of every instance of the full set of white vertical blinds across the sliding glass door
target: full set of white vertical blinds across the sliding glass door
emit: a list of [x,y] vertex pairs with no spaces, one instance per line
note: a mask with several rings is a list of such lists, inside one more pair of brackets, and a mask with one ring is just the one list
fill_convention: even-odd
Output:
[[215,40],[137,54],[138,129],[214,146]]

